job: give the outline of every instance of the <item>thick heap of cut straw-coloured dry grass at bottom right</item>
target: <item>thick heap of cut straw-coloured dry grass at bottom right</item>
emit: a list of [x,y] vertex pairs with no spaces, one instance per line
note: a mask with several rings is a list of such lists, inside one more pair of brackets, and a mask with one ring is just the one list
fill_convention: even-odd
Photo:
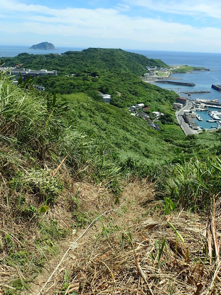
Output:
[[[129,226],[134,250],[129,240],[122,250],[119,228],[108,237],[87,237],[86,245],[79,244],[74,257],[68,258],[71,279],[66,294],[219,294],[221,265],[210,265],[206,254],[208,224],[197,215],[191,220],[185,212],[167,217],[184,238],[184,246],[162,219],[144,218]],[[163,237],[167,250],[158,259],[155,242],[162,244]]]

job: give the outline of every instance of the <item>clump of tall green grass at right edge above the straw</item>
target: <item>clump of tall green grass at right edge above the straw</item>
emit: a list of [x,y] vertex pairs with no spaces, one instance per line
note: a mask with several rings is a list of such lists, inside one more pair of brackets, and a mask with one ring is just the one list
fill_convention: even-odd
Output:
[[168,175],[167,194],[176,200],[180,208],[194,212],[212,209],[211,204],[221,194],[221,160],[218,157],[175,164],[173,174]]

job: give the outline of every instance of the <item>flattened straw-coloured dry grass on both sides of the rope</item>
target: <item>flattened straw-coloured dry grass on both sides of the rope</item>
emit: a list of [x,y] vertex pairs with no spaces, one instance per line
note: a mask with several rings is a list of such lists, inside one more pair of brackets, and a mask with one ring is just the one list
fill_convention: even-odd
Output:
[[[79,214],[89,212],[90,220],[119,206],[114,206],[113,196],[99,186],[72,183],[65,199],[48,213],[49,219],[57,217],[61,228],[74,228],[73,196],[80,200],[75,209]],[[129,183],[121,196],[120,208],[102,216],[88,229],[52,278],[47,281],[89,221],[59,243],[59,254],[50,258],[29,292],[21,294],[40,294],[45,282],[41,292],[45,295],[221,294],[221,263],[215,254],[215,245],[220,252],[221,239],[218,211],[213,217],[213,232],[211,216],[200,218],[184,211],[166,216],[157,210],[157,205],[154,185],[145,181]],[[6,278],[24,275],[14,266],[1,271],[5,284]]]

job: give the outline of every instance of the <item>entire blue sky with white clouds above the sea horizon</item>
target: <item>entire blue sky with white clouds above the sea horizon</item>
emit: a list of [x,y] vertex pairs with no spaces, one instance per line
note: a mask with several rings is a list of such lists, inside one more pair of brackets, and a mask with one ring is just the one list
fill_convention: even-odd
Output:
[[0,44],[217,52],[220,0],[0,0]]

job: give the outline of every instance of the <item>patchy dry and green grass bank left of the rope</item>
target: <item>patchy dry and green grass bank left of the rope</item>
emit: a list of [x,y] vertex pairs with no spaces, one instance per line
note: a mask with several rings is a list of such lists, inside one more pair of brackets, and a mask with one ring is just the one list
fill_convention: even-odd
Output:
[[[16,192],[2,191],[0,289],[3,287],[7,294],[28,289],[36,276],[36,283],[40,284],[41,278],[44,280],[49,275],[53,263],[59,261],[75,236],[91,219],[111,208],[115,201],[115,197],[100,186],[71,182],[68,173],[63,175],[62,180],[67,190],[43,214],[27,211],[30,205],[35,208],[41,206],[35,195],[26,194],[22,207],[16,206]],[[8,206],[7,193],[10,193]],[[56,224],[53,223],[55,219]],[[72,233],[75,229],[76,234]],[[42,268],[44,265],[47,270]],[[22,290],[18,294],[23,294]]]

